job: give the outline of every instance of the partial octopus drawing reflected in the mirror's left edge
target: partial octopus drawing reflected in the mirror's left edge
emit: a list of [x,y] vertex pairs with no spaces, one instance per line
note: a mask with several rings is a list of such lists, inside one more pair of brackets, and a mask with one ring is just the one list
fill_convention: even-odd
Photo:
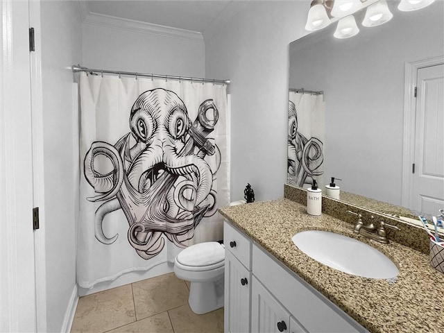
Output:
[[320,176],[323,156],[323,144],[320,139],[307,139],[298,132],[298,115],[296,106],[289,101],[289,135],[287,153],[287,181],[289,185],[302,187],[311,184],[314,176]]

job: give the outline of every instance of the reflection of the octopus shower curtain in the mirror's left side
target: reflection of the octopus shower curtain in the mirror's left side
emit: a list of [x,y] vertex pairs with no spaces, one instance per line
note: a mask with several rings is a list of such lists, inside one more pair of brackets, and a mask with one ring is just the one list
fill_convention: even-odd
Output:
[[325,139],[323,94],[289,92],[287,182],[309,187],[313,179],[321,188]]

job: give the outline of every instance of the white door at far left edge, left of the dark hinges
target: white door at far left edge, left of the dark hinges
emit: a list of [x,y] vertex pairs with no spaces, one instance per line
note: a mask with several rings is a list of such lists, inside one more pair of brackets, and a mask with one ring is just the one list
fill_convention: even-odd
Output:
[[0,6],[0,332],[36,331],[28,6]]

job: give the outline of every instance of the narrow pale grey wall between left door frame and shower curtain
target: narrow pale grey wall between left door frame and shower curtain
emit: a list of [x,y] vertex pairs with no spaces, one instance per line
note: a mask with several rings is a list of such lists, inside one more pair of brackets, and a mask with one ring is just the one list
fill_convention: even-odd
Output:
[[82,28],[76,1],[42,1],[41,29],[46,329],[60,332],[66,325],[73,294],[76,296],[79,168],[71,65],[82,61]]

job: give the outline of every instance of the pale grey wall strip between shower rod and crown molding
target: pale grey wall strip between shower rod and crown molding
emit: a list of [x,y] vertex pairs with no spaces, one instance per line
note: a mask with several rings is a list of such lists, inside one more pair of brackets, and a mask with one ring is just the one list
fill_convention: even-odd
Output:
[[95,69],[137,71],[202,78],[203,40],[169,37],[83,24],[83,65]]

